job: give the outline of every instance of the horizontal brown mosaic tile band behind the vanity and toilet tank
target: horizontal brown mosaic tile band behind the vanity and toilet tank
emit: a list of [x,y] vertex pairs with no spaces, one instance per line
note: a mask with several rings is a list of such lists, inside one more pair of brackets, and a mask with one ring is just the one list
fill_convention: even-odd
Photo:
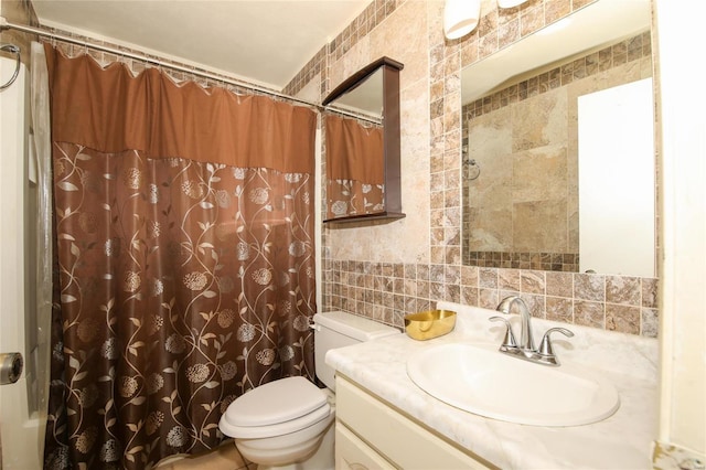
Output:
[[533,317],[656,338],[657,280],[628,276],[474,266],[330,261],[328,309],[394,327],[436,301],[494,309],[521,295]]

